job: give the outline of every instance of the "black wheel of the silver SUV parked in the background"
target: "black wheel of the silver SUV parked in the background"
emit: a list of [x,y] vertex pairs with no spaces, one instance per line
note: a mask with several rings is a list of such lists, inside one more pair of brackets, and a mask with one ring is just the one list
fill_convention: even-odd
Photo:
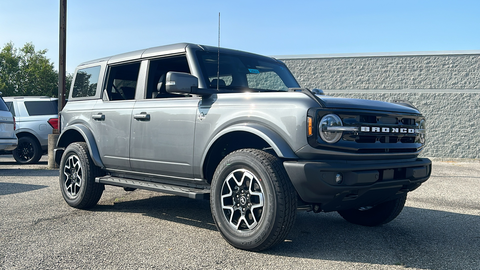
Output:
[[42,158],[43,150],[38,141],[32,137],[18,138],[17,148],[12,150],[13,158],[20,164],[36,164]]

